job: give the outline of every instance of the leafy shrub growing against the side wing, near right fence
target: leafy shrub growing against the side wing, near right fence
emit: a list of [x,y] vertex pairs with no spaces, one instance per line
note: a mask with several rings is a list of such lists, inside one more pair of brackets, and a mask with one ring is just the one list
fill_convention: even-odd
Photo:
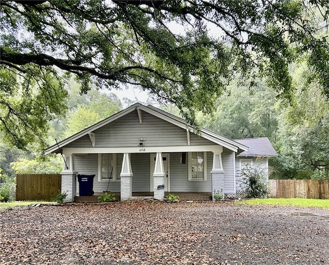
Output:
[[246,186],[247,197],[267,197],[266,173],[264,169],[247,167],[241,171],[241,177]]

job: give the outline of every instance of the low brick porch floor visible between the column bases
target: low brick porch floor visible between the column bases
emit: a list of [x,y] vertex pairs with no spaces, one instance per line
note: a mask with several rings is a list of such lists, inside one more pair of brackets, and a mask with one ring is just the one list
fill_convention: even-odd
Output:
[[[113,192],[116,200],[120,200],[120,192]],[[175,194],[179,196],[179,200],[212,200],[211,192],[165,192],[165,198],[169,194]],[[75,196],[74,200],[77,202],[95,202],[98,196],[103,195],[102,192],[96,192],[93,196]],[[139,198],[153,198],[153,192],[133,192],[132,199]]]

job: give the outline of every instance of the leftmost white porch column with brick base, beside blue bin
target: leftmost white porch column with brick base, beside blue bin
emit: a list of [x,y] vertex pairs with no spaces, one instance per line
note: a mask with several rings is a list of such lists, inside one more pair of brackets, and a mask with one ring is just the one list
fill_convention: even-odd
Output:
[[64,165],[61,172],[62,185],[61,192],[67,194],[63,202],[73,202],[74,197],[77,195],[77,174],[74,169],[73,156],[64,155]]

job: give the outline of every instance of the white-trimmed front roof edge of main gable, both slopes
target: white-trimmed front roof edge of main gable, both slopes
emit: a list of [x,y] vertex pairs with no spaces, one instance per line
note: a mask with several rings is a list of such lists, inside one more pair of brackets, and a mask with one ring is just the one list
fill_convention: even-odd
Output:
[[[123,117],[124,115],[126,114],[129,114],[130,112],[133,112],[135,110],[142,110],[142,111],[145,111],[147,113],[150,113],[151,115],[154,115],[160,119],[163,119],[163,120],[166,120],[168,121],[169,123],[177,126],[177,127],[180,127],[182,129],[185,129],[185,130],[189,130],[191,132],[193,132],[193,127],[190,126],[190,125],[187,125],[186,124],[186,121],[182,118],[179,118],[177,116],[174,116],[170,113],[167,113],[165,111],[162,111],[158,108],[155,108],[151,105],[149,106],[144,106],[140,103],[136,103],[104,120],[101,120],[99,121],[99,123],[95,124],[95,125],[92,125],[62,141],[60,141],[58,143],[58,145],[53,145],[49,148],[47,148],[46,150],[44,150],[45,154],[50,154],[50,153],[53,153],[53,152],[58,152],[59,148],[63,148],[65,147],[66,145],[70,144],[71,142],[89,134],[89,133],[92,133],[100,128],[102,128],[103,126],[109,124],[109,123],[112,123],[113,121]],[[218,145],[221,145],[223,147],[226,147],[232,151],[235,151],[235,152],[238,152],[238,151],[246,151],[248,150],[248,147],[245,146],[244,144],[241,144],[240,142],[236,142],[236,141],[233,141],[233,140],[229,140],[225,137],[222,137],[214,132],[211,132],[209,130],[206,130],[204,128],[200,129],[200,136],[201,137],[204,137],[212,142],[214,142],[215,144],[218,144]]]

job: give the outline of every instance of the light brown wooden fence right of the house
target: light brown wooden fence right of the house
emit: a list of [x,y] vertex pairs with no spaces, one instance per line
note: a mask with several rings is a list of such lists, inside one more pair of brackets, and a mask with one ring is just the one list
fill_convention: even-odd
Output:
[[329,180],[270,179],[271,198],[329,199]]

